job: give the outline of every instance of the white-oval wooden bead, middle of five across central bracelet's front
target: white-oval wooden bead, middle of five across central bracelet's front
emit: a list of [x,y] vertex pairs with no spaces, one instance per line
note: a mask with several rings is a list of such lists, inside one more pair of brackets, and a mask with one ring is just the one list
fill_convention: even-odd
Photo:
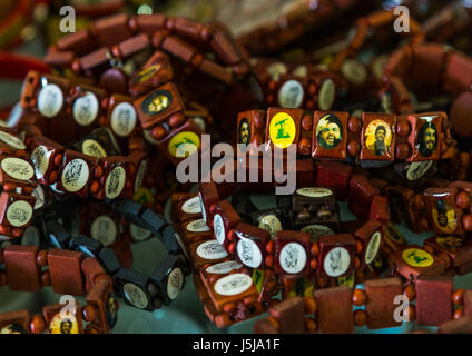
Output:
[[274,271],[279,275],[307,276],[311,273],[311,235],[282,230],[274,240]]

